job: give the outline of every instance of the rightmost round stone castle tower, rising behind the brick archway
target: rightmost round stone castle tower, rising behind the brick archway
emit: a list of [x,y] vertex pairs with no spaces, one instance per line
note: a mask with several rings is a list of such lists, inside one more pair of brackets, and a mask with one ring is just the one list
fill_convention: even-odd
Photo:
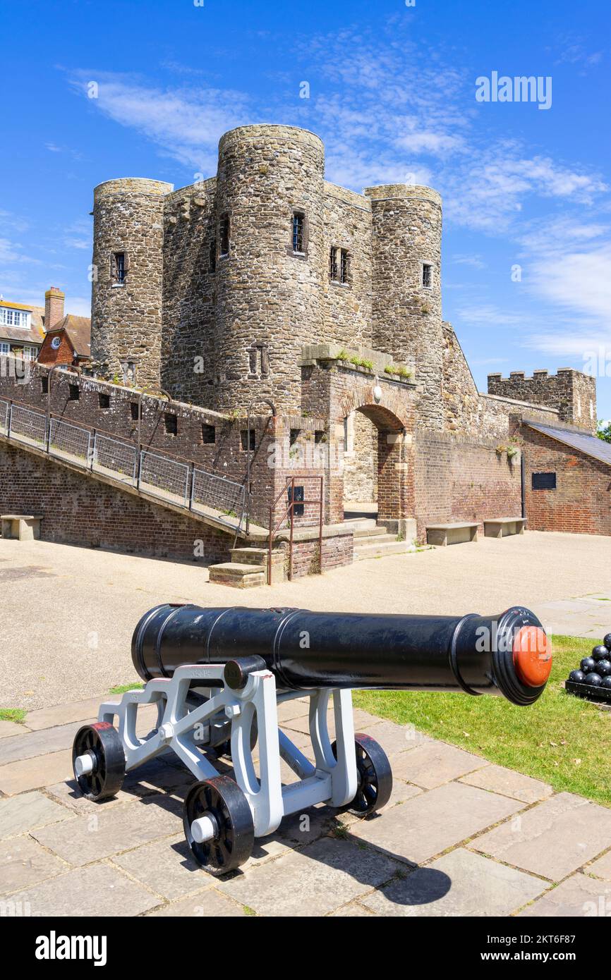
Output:
[[384,184],[372,203],[373,346],[413,363],[422,424],[443,425],[441,198],[431,187]]

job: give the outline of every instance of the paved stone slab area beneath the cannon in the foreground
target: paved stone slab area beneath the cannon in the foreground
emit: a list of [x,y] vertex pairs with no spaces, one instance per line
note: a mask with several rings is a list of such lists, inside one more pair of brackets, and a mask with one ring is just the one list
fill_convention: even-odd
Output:
[[[611,809],[365,711],[357,730],[395,777],[382,813],[289,817],[215,879],[184,843],[178,763],[147,763],[101,805],[77,795],[70,748],[101,700],[0,723],[0,914],[611,914]],[[306,711],[290,702],[280,719],[307,754]]]

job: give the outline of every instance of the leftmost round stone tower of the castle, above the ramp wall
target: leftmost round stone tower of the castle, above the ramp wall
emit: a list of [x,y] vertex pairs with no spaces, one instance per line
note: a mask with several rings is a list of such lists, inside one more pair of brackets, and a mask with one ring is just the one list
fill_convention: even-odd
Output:
[[126,177],[93,191],[93,368],[138,387],[160,385],[163,215],[172,189]]

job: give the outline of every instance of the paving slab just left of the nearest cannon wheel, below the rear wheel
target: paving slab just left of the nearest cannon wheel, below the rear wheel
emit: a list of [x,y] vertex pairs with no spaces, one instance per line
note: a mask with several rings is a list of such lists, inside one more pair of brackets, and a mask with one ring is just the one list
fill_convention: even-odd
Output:
[[77,816],[67,824],[34,830],[32,836],[60,858],[81,865],[176,834],[181,817],[182,807],[172,797],[147,797],[99,816]]

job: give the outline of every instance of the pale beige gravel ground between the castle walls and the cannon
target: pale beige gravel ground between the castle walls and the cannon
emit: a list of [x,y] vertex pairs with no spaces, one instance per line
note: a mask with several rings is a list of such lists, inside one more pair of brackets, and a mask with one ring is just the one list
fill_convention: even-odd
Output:
[[605,589],[611,598],[608,556],[606,537],[532,531],[238,591],[211,585],[199,564],[0,539],[0,707],[44,708],[131,681],[133,628],[158,603],[447,614],[524,604],[553,631],[545,604]]

